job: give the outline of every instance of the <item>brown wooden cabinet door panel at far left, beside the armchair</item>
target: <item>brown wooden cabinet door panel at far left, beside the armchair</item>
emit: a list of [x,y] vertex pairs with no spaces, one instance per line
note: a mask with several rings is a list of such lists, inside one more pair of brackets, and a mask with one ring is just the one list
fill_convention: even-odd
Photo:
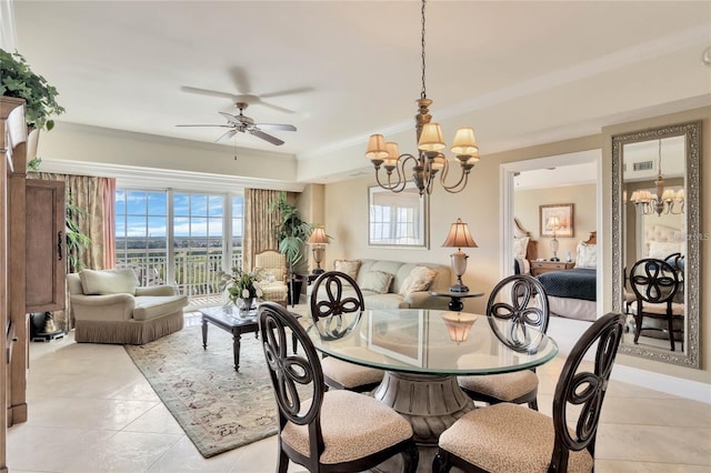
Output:
[[64,183],[28,179],[27,312],[64,309]]

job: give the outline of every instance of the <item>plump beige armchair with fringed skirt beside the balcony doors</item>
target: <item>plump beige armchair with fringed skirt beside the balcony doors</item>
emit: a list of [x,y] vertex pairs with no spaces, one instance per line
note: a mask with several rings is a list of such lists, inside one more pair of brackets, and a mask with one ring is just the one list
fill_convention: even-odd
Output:
[[142,345],[183,326],[188,298],[170,285],[139,286],[131,269],[67,274],[74,340]]

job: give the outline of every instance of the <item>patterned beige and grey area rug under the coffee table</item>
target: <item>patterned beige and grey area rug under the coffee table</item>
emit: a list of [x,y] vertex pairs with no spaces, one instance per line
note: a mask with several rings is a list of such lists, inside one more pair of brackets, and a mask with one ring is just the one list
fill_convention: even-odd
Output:
[[253,333],[242,335],[234,371],[232,335],[200,325],[142,346],[126,345],[166,407],[202,456],[210,457],[277,433],[277,403],[264,353]]

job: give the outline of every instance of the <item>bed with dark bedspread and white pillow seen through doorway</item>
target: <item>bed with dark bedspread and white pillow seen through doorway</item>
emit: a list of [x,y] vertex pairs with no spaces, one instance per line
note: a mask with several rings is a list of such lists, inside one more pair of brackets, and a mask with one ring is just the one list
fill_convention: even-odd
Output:
[[575,266],[538,275],[548,294],[551,315],[594,321],[597,303],[597,232],[578,243]]

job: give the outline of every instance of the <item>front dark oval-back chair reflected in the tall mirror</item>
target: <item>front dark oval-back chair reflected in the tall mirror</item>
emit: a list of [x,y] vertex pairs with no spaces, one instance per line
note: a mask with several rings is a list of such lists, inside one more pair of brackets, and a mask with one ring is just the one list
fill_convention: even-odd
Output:
[[[685,313],[685,305],[675,302],[677,293],[682,286],[679,272],[667,261],[645,258],[632,265],[630,284],[637,296],[637,303],[632,305],[634,343],[639,343],[642,330],[654,330],[665,333],[671,351],[675,351],[675,333],[683,334],[683,328],[674,329],[674,322],[683,321]],[[644,318],[663,320],[667,326],[642,326]],[[681,339],[683,351],[683,336]]]

